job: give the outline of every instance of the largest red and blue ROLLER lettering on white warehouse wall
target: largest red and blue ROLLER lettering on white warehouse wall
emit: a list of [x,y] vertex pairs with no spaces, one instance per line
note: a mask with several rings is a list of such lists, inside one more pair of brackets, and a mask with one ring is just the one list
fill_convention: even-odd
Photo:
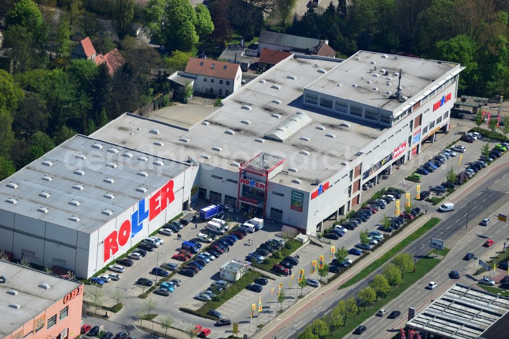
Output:
[[131,219],[122,222],[120,229],[111,232],[104,238],[104,262],[108,262],[120,247],[126,245],[129,239],[143,229],[145,220],[151,221],[175,200],[173,180],[168,181],[159,191],[149,199],[149,206],[145,207],[145,199],[138,202],[138,209],[131,215]]

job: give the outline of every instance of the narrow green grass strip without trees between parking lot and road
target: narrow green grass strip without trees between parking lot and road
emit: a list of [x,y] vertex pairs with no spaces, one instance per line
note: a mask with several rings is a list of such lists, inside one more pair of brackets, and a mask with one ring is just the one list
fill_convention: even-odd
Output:
[[402,251],[405,247],[407,247],[410,242],[415,241],[416,239],[419,239],[422,235],[424,235],[426,232],[434,228],[437,223],[440,222],[439,218],[431,218],[430,220],[426,221],[425,224],[423,224],[419,229],[417,229],[414,233],[403,239],[399,244],[395,245],[391,249],[389,249],[383,256],[372,262],[370,265],[366,266],[362,271],[357,273],[354,277],[349,279],[345,284],[341,285],[338,290],[347,288],[349,286],[352,286],[356,283],[358,283],[360,280],[366,278],[368,275],[373,273],[375,270],[382,267],[383,264],[388,262],[392,257],[397,255],[400,251]]

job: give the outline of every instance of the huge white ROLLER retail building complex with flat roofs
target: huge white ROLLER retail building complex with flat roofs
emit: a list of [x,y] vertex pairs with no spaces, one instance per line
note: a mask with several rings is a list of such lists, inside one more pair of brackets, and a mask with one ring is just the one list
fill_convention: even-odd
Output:
[[315,235],[448,130],[462,69],[292,54],[191,127],[124,114],[0,184],[0,247],[88,277],[197,199]]

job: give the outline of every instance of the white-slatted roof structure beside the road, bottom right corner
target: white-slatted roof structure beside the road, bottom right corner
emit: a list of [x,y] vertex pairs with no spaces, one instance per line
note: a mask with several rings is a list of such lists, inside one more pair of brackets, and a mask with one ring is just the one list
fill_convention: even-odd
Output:
[[477,339],[507,312],[509,298],[456,284],[406,325],[444,338]]

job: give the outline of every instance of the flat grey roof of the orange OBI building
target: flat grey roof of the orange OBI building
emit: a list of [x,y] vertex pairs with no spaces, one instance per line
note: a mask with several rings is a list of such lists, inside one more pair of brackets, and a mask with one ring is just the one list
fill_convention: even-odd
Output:
[[[7,277],[6,283],[0,284],[2,337],[10,335],[81,285],[77,281],[5,261],[0,261],[0,275]],[[48,289],[39,287],[41,283],[46,283],[50,287]],[[13,295],[8,291],[16,291],[17,294]],[[13,308],[9,306],[10,304],[18,304],[20,307]]]

